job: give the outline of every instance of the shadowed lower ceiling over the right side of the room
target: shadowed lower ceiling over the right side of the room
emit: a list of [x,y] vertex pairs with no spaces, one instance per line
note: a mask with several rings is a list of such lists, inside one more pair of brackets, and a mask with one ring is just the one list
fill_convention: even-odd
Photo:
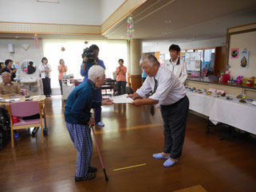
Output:
[[[134,38],[144,42],[226,37],[226,29],[256,22],[255,0],[149,0],[133,13]],[[127,18],[107,33],[125,38]]]

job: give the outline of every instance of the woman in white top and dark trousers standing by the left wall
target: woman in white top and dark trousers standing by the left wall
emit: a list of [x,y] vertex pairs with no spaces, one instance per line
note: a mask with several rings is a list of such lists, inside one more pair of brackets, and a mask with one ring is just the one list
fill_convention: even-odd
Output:
[[41,74],[41,80],[43,83],[43,88],[44,88],[44,95],[46,97],[51,96],[51,76],[50,73],[52,71],[51,66],[48,64],[48,60],[46,57],[43,57],[41,59],[41,65],[38,68],[40,74]]

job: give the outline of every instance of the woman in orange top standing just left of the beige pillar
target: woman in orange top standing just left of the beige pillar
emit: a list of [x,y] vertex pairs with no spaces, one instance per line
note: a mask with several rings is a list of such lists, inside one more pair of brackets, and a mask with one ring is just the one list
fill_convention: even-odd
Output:
[[117,94],[123,95],[126,92],[126,67],[124,67],[124,60],[120,59],[118,61],[119,67],[116,68],[116,86]]

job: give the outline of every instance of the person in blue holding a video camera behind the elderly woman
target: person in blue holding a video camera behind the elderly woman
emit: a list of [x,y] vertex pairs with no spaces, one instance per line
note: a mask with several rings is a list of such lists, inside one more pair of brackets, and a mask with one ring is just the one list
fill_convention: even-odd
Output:
[[[97,45],[91,45],[89,48],[84,49],[84,52],[82,54],[83,63],[81,65],[81,71],[80,71],[81,76],[85,76],[83,82],[86,82],[88,80],[88,72],[93,65],[100,65],[103,69],[106,69],[104,62],[98,58],[99,52],[100,52],[100,49]],[[94,94],[94,100],[101,101],[101,99],[102,99],[101,88],[96,88],[96,91]],[[101,119],[101,107],[95,108],[95,112],[94,112],[95,124],[100,127],[104,127],[104,123],[101,123],[100,119]]]

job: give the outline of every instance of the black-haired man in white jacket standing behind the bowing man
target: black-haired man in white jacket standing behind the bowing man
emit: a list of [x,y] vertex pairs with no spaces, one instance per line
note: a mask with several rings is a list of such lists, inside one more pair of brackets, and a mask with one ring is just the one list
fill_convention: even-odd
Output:
[[179,45],[171,45],[169,48],[170,57],[163,62],[163,67],[171,70],[179,78],[179,80],[184,84],[185,80],[187,80],[187,65],[185,61],[180,60],[179,53],[180,48]]

